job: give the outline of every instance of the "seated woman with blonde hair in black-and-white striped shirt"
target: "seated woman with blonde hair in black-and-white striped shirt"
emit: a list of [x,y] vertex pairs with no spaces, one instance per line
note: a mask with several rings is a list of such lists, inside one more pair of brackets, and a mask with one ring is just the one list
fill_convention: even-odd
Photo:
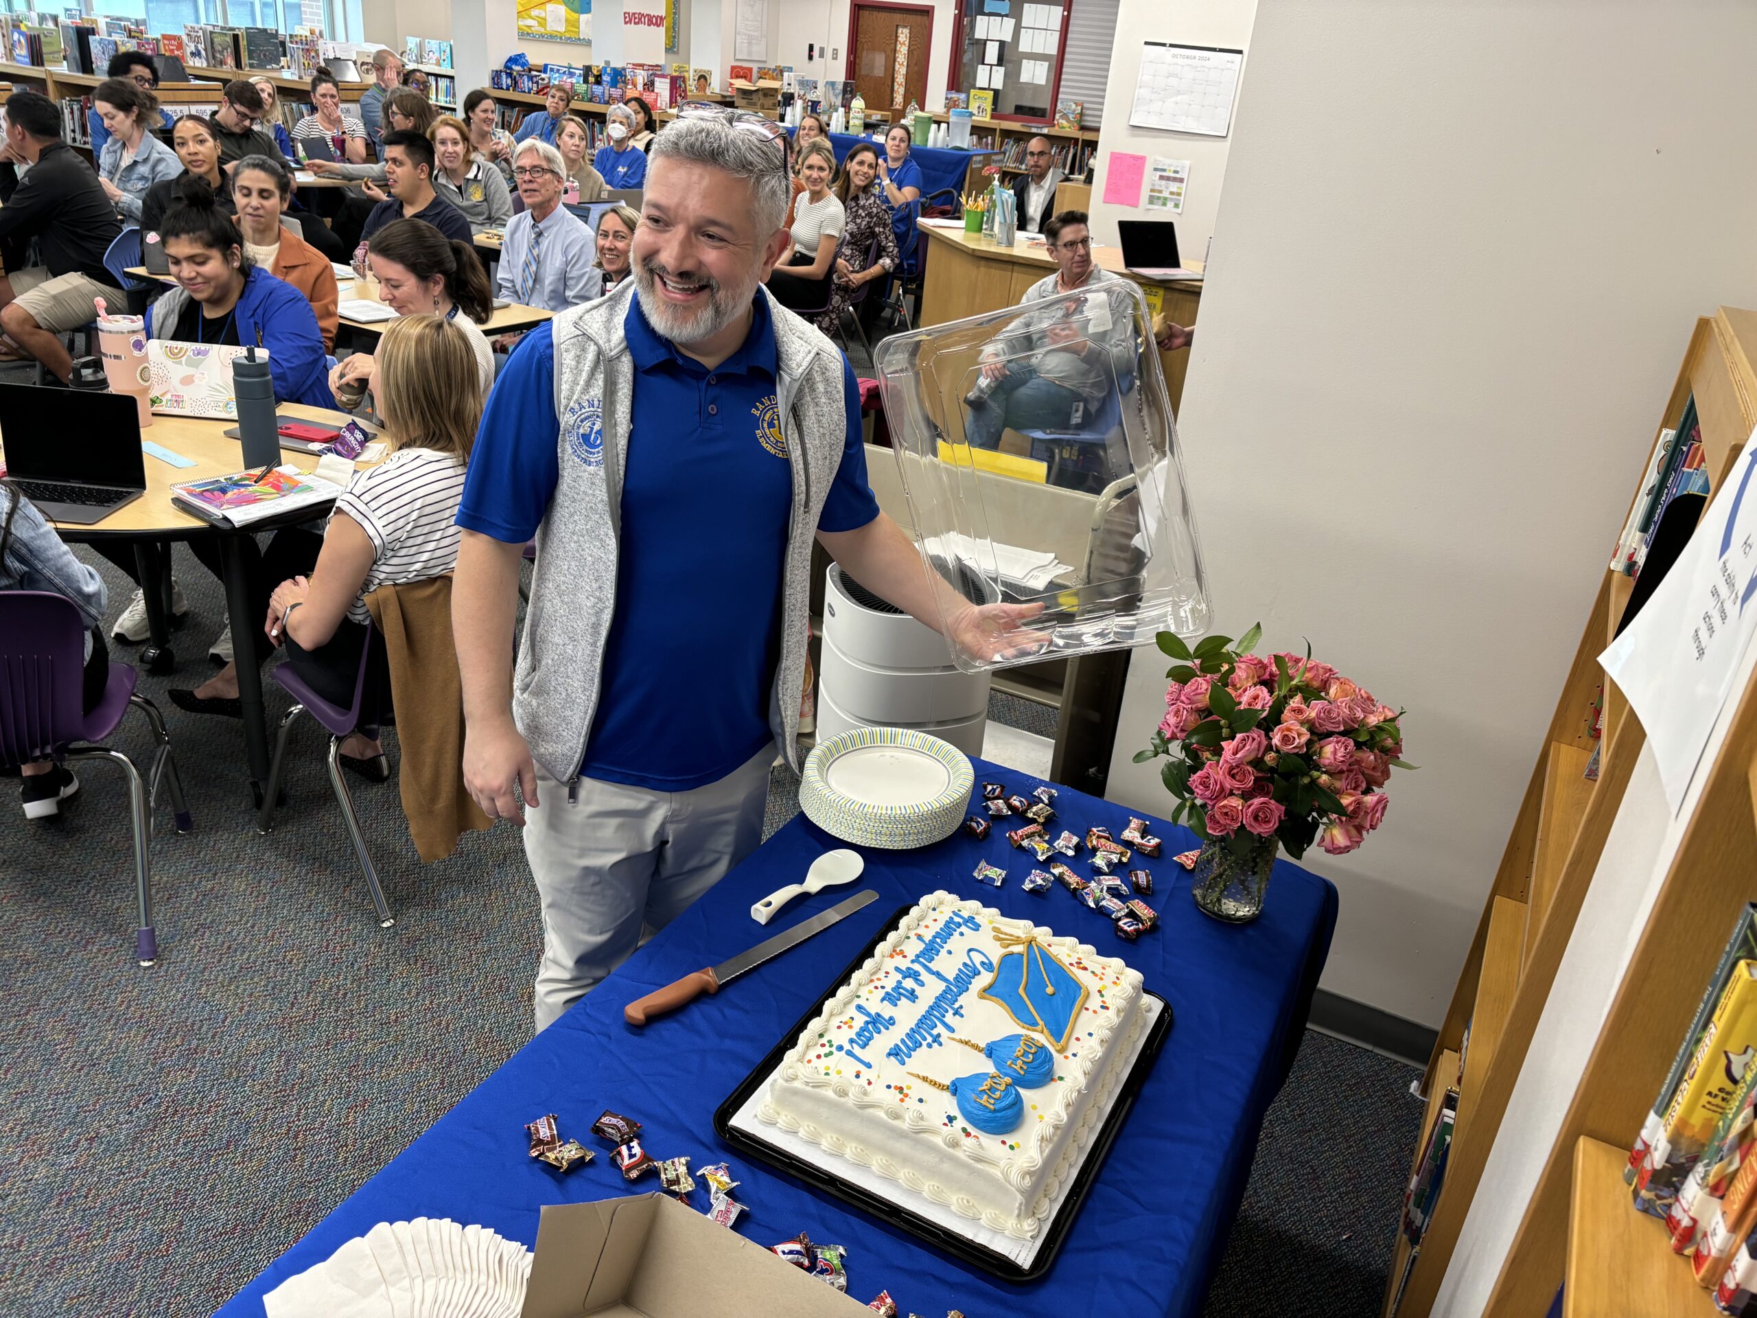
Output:
[[[251,661],[260,664],[285,641],[293,671],[323,699],[344,706],[353,703],[372,617],[365,596],[381,585],[445,576],[457,564],[457,504],[481,420],[476,353],[464,330],[443,316],[390,322],[376,362],[372,390],[390,457],[355,473],[322,538],[297,529],[276,532],[251,582],[253,592],[267,594]],[[276,580],[279,585],[269,592],[265,583]],[[376,633],[367,680],[367,689],[376,682],[378,691],[367,706],[385,712],[390,684]],[[199,713],[230,713],[237,670],[227,664],[206,685],[172,691],[170,698]],[[343,742],[341,761],[372,782],[390,777],[376,722]]]

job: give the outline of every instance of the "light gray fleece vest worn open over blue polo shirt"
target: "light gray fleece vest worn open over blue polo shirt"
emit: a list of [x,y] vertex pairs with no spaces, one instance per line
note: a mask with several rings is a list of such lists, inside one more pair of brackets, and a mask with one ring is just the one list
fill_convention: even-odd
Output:
[[[553,322],[559,482],[538,529],[513,717],[536,761],[568,784],[585,761],[603,689],[604,643],[617,610],[622,473],[634,392],[634,360],[622,318],[633,295],[634,281],[624,279],[608,297],[562,311]],[[768,719],[782,754],[798,770],[812,541],[842,464],[847,406],[842,355],[829,339],[773,297],[770,320],[782,438],[792,466],[792,513],[780,582],[780,666],[768,694]],[[680,469],[676,480],[691,480],[689,469]],[[766,582],[750,583],[750,590],[764,589]],[[648,643],[712,650],[713,638],[694,634],[689,619],[678,617],[675,634],[652,636]],[[655,717],[664,715],[655,712]]]

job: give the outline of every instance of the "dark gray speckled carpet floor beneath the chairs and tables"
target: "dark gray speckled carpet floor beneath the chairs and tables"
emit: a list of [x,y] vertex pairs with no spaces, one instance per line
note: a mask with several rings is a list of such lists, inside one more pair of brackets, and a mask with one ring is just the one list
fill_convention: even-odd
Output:
[[[104,571],[114,613],[127,589]],[[163,699],[165,685],[213,671],[204,652],[221,626],[218,583],[181,548],[177,580],[193,610],[177,633],[181,673],[142,675],[141,689],[167,710],[197,831],[155,845],[156,968],[130,956],[118,775],[83,768],[79,798],[44,824],[26,824],[16,784],[0,784],[9,1318],[213,1311],[531,1033],[538,907],[517,835],[474,835],[420,866],[395,787],[360,784],[399,921],[381,931],[316,729],[295,738],[290,801],[264,838],[235,726]],[[272,682],[269,701],[271,717],[286,708]],[[1023,717],[1000,699],[996,713]],[[139,715],[112,743],[146,754]],[[770,828],[792,815],[792,793],[777,771]],[[1411,1075],[1307,1035],[1209,1314],[1260,1314],[1286,1295],[1311,1318],[1377,1304],[1420,1118]]]

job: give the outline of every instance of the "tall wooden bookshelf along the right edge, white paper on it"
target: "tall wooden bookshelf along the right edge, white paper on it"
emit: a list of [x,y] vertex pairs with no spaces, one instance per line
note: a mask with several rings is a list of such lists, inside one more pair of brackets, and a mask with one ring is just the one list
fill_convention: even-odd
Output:
[[[1676,429],[1692,399],[1713,492],[1757,427],[1757,311],[1720,308],[1696,322],[1657,431]],[[1645,474],[1646,466],[1638,476]],[[1638,489],[1630,506],[1639,497]],[[1615,534],[1616,527],[1606,525],[1606,548]],[[1421,1077],[1428,1104],[1413,1165],[1444,1095],[1457,1090],[1451,1149],[1413,1262],[1399,1230],[1383,1318],[1425,1318],[1434,1304],[1641,752],[1641,724],[1597,664],[1632,589],[1632,578],[1609,568],[1599,582]],[[1525,1206],[1488,1314],[1544,1314],[1564,1279],[1565,1318],[1715,1313],[1660,1223],[1634,1209],[1622,1167],[1713,975],[1732,916],[1757,898],[1757,682],[1731,699],[1738,701],[1731,735],[1717,761],[1704,766],[1701,805]],[[1595,738],[1601,701],[1602,733]],[[1595,745],[1594,780],[1585,775]]]

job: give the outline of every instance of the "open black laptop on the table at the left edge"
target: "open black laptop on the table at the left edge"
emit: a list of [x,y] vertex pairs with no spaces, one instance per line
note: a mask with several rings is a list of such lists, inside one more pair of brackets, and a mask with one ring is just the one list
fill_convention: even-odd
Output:
[[141,409],[128,394],[0,385],[0,416],[7,476],[44,517],[91,525],[146,494]]

